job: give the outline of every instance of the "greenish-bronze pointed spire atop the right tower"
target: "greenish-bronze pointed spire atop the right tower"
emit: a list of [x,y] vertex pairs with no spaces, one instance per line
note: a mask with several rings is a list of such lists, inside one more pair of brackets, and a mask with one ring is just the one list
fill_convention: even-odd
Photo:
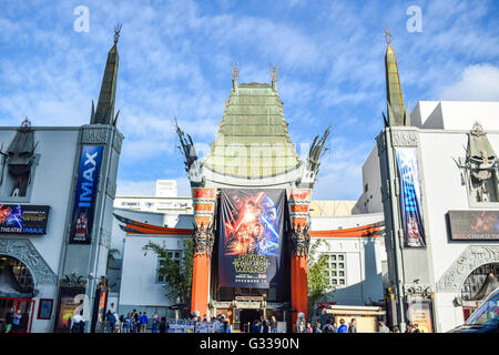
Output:
[[409,125],[409,113],[404,111],[404,99],[400,88],[400,79],[398,75],[398,65],[395,51],[391,48],[390,31],[385,29],[386,54],[385,54],[385,73],[386,73],[386,100],[388,110],[388,125]]

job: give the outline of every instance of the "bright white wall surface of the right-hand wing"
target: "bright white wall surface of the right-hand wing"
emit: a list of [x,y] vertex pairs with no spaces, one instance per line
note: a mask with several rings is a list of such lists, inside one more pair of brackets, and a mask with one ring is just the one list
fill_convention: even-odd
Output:
[[[448,110],[454,112],[460,105]],[[499,106],[498,111],[499,112]],[[421,179],[425,183],[427,209],[427,237],[431,241],[431,262],[435,282],[438,283],[446,271],[469,245],[491,245],[495,242],[449,242],[446,214],[449,210],[499,209],[499,203],[470,206],[468,189],[461,183],[461,175],[454,159],[466,156],[467,133],[472,120],[468,120],[467,131],[420,131]],[[462,124],[462,122],[458,122]],[[488,131],[490,144],[499,150],[499,132]],[[445,172],[445,173],[442,173]],[[437,293],[435,296],[437,323],[440,332],[447,332],[464,323],[462,307],[454,300],[459,293]]]

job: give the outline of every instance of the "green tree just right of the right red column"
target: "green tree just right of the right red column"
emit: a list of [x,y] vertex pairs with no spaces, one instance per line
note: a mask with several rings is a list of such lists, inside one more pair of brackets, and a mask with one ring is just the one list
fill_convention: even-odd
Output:
[[307,284],[308,284],[308,318],[312,320],[316,303],[319,301],[326,301],[327,295],[334,292],[334,287],[330,284],[327,272],[327,255],[318,253],[317,248],[320,245],[328,244],[324,240],[317,240],[310,243],[307,260]]

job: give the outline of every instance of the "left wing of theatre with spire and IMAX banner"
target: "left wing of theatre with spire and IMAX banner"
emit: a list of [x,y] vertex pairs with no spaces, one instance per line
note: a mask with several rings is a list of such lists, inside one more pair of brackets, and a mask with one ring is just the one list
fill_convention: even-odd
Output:
[[123,141],[114,115],[118,36],[90,124],[26,119],[0,128],[0,332],[10,308],[21,311],[20,332],[69,332],[77,312],[86,332],[102,321]]

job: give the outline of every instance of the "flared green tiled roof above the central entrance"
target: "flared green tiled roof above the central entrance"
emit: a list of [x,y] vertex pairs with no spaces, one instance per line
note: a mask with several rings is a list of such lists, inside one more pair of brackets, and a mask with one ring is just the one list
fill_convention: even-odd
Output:
[[302,161],[293,148],[283,102],[266,83],[235,85],[212,150],[203,163],[210,170],[237,178],[279,175]]

